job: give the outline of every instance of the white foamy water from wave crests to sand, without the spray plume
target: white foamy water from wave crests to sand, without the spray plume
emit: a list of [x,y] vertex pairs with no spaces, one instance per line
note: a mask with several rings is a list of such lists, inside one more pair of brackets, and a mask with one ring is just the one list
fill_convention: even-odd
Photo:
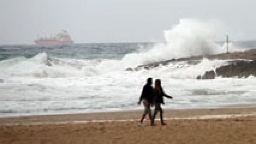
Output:
[[[125,71],[118,60],[55,58],[49,65],[39,54],[0,68],[1,116],[141,109],[136,105],[147,77],[160,78],[174,97],[164,108],[211,108],[255,104],[255,77],[195,77],[227,62],[203,59],[198,64],[170,63],[150,70]],[[40,56],[40,57],[39,57]],[[112,64],[112,66],[110,66]]]

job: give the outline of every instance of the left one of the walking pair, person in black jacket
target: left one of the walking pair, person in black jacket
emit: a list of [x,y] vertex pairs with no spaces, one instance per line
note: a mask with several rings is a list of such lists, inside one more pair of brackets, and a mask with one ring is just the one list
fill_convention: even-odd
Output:
[[147,114],[149,114],[149,118],[151,120],[151,109],[150,106],[153,104],[153,87],[152,87],[152,78],[147,78],[147,83],[143,87],[140,99],[138,101],[138,105],[141,104],[141,101],[144,104],[145,110],[144,114],[141,117],[140,124],[143,122],[144,118]]

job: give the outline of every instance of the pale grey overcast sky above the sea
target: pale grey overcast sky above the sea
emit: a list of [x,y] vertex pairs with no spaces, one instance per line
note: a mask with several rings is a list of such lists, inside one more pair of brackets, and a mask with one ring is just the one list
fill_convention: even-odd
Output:
[[219,19],[231,39],[256,39],[255,14],[255,0],[0,0],[0,44],[60,29],[75,43],[164,41],[182,18]]

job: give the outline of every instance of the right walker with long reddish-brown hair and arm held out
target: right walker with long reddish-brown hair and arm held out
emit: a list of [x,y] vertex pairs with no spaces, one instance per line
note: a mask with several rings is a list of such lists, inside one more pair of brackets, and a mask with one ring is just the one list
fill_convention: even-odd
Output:
[[172,96],[169,96],[164,93],[163,88],[161,86],[161,80],[159,80],[159,79],[155,80],[154,100],[153,100],[153,103],[155,105],[155,111],[154,111],[154,114],[151,119],[151,126],[155,125],[154,120],[155,120],[155,116],[158,111],[160,112],[161,124],[166,125],[166,123],[164,123],[164,120],[163,120],[163,109],[161,107],[161,104],[164,104],[164,98],[163,98],[164,96],[166,98],[172,99]]

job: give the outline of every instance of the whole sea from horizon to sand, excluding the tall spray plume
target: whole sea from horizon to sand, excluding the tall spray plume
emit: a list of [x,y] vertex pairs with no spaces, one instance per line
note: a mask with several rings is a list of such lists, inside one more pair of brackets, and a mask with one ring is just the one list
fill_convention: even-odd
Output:
[[[255,49],[256,42],[234,45]],[[125,71],[162,60],[161,55],[172,58],[160,52],[155,55],[157,48],[159,44],[153,43],[2,45],[0,117],[142,109],[137,101],[147,77],[160,78],[165,92],[173,96],[165,99],[164,108],[256,104],[255,77],[196,80],[205,71],[227,64],[225,60]]]

